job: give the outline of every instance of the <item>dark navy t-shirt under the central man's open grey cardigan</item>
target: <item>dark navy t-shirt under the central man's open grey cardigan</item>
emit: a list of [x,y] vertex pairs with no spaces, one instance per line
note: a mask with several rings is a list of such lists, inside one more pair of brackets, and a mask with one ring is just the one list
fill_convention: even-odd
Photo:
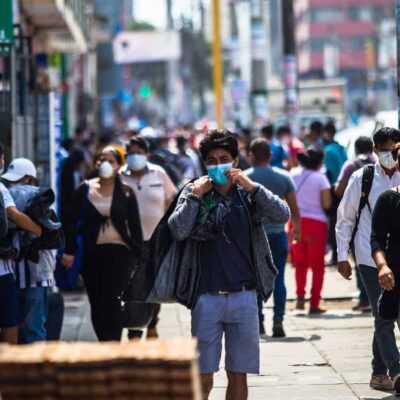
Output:
[[[223,200],[215,190],[212,195]],[[255,283],[249,218],[237,187],[225,201],[230,203],[230,212],[224,227],[215,239],[203,243],[200,293],[238,290]]]

